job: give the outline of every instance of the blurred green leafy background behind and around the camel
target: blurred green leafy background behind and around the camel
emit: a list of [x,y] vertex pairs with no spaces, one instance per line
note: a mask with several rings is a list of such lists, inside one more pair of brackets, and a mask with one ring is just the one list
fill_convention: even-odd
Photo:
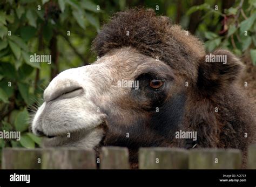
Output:
[[[97,57],[90,47],[100,27],[114,12],[134,6],[170,17],[204,41],[207,51],[235,53],[246,65],[240,84],[247,82],[245,89],[256,103],[255,0],[1,0],[0,131],[21,131],[22,137],[0,138],[0,149],[40,146],[29,119],[43,101],[44,88],[59,72],[93,63]],[[51,54],[52,63],[31,63],[34,53]]]

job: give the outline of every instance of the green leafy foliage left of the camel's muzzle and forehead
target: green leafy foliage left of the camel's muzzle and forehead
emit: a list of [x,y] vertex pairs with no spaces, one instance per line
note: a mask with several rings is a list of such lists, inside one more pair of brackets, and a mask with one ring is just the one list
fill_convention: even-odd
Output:
[[102,11],[93,1],[77,0],[3,1],[0,7],[0,131],[22,133],[21,141],[0,139],[0,146],[33,148],[41,144],[41,138],[31,133],[29,119],[56,62],[49,67],[31,61],[30,56],[52,54],[51,40],[56,38],[58,71],[87,63],[70,45],[82,56],[89,53]]

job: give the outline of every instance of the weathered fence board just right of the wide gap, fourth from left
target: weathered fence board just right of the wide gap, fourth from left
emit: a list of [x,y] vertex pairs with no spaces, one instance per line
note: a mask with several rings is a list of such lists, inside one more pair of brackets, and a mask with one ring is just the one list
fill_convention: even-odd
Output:
[[140,148],[139,169],[187,169],[188,152],[179,148]]

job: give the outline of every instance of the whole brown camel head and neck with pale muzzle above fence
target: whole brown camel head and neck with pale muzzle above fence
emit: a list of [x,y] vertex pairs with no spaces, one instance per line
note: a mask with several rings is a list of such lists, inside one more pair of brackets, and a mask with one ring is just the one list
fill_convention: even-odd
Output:
[[196,37],[145,9],[114,15],[92,49],[98,61],[45,89],[32,123],[45,146],[122,146],[131,163],[139,147],[238,148],[246,163],[256,123],[234,54],[207,54]]

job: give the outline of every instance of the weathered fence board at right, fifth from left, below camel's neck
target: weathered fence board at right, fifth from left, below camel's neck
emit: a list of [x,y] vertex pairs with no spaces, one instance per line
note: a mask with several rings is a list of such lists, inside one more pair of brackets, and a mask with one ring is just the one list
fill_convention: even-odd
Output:
[[238,149],[193,149],[188,156],[189,169],[241,169]]

